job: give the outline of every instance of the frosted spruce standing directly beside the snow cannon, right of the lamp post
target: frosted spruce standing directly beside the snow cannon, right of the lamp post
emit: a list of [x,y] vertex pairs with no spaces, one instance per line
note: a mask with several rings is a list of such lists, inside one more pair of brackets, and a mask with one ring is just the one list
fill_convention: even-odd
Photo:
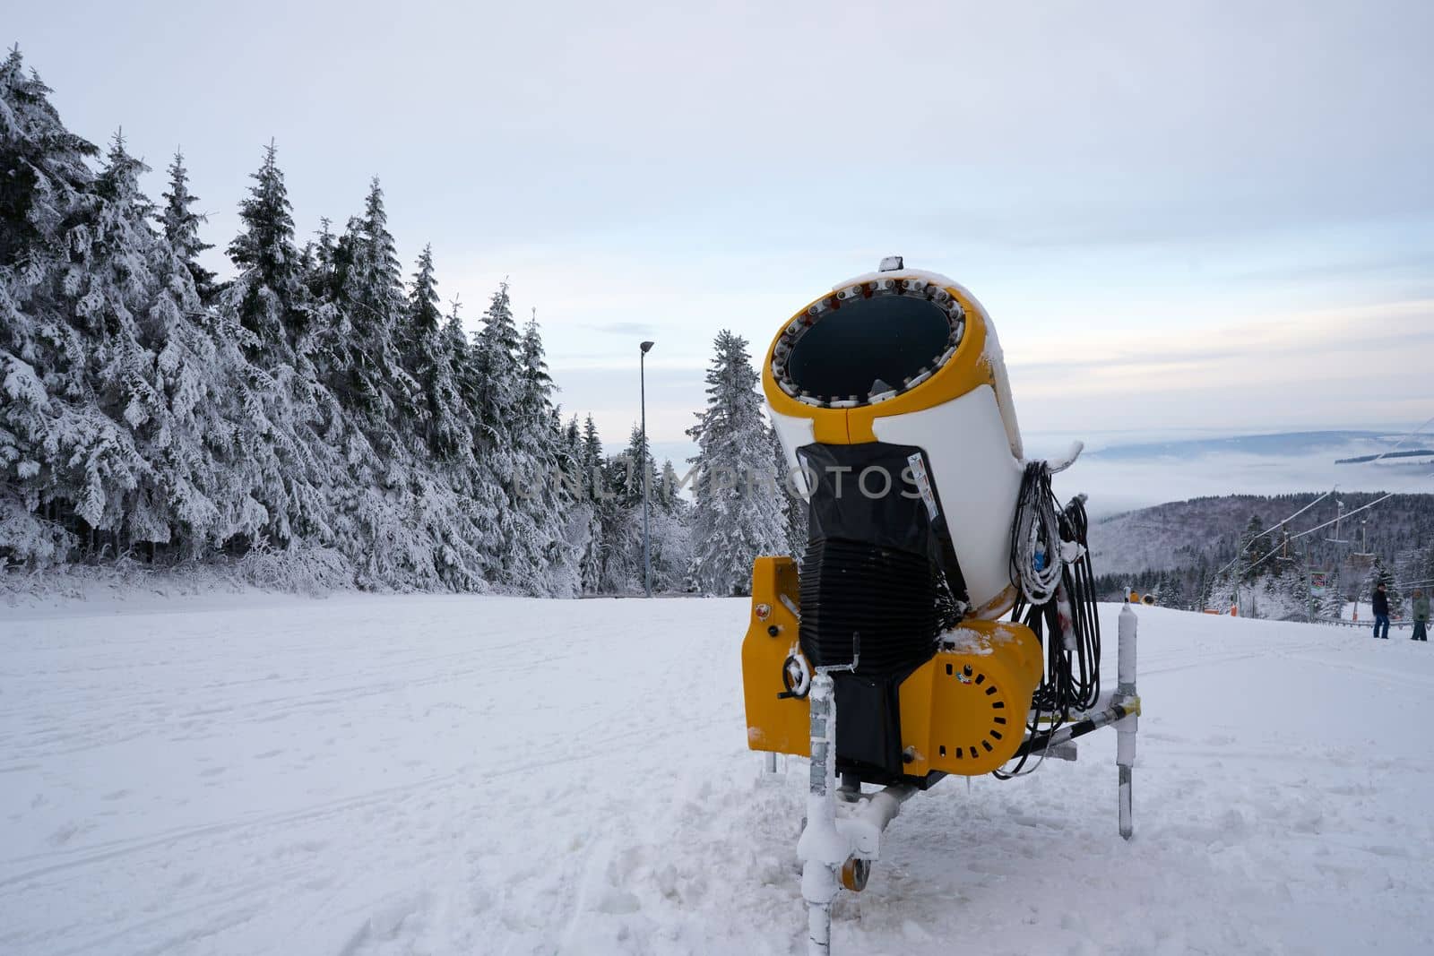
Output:
[[707,408],[687,430],[698,447],[690,575],[698,591],[744,595],[753,559],[784,553],[787,529],[747,341],[723,330],[713,345]]

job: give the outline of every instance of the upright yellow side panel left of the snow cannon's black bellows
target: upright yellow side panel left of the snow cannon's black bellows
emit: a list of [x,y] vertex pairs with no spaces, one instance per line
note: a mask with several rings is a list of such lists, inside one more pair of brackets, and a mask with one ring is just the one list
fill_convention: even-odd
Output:
[[[800,611],[800,602],[794,560],[763,556],[753,562],[751,618],[741,642],[741,689],[751,750],[812,754],[812,712],[806,698],[777,697],[786,689],[782,664],[797,644],[797,616],[792,608]],[[766,619],[759,615],[761,608],[767,611]],[[777,632],[771,634],[771,628]]]

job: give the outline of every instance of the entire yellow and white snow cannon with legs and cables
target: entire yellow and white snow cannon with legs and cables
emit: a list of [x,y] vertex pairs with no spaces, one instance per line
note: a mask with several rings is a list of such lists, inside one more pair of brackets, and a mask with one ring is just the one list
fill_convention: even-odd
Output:
[[865,886],[886,824],[944,775],[1011,775],[1120,721],[1129,836],[1134,619],[1129,675],[1123,646],[1121,688],[1097,699],[1084,497],[1058,509],[1050,490],[1080,446],[1060,464],[1024,460],[975,297],[885,259],[782,325],[761,384],[809,539],[800,569],[753,566],[747,741],[769,771],[777,754],[812,760],[810,952],[827,952],[837,883]]

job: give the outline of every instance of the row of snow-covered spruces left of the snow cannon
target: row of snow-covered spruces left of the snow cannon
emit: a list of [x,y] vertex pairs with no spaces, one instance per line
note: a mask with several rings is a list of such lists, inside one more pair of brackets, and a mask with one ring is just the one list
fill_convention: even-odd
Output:
[[[508,284],[465,331],[424,248],[407,275],[373,181],[300,242],[272,143],[225,247],[184,156],[162,202],[116,135],[69,132],[19,50],[0,66],[0,568],[265,560],[284,586],[641,585],[642,474],[663,591],[734,593],[786,550],[789,502],[710,480],[776,469],[746,341],[716,338],[691,500],[634,429],[562,419]],[[664,480],[664,477],[667,480]]]

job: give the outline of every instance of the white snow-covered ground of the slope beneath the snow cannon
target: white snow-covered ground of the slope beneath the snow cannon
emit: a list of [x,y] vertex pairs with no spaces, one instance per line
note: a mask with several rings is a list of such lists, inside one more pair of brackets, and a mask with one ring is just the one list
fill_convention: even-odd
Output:
[[[1107,665],[1114,658],[1107,608]],[[741,601],[6,609],[0,953],[792,953]],[[1141,609],[1114,735],[892,824],[839,953],[1434,952],[1434,652]]]

